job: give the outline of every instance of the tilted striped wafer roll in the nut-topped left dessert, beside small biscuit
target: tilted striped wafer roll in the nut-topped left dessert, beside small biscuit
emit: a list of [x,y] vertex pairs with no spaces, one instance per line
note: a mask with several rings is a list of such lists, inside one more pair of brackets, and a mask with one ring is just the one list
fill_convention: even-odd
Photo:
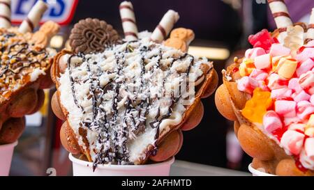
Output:
[[37,3],[31,8],[29,11],[29,15],[22,22],[19,31],[20,33],[27,33],[33,31],[40,22],[41,17],[43,17],[43,13],[47,10],[48,6],[44,1],[37,1]]

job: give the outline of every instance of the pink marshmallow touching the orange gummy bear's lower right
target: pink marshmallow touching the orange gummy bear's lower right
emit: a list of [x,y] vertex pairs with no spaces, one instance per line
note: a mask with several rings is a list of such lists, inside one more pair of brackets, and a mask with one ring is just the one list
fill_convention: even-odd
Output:
[[269,133],[283,127],[283,123],[275,111],[267,111],[263,118],[263,125],[264,129]]

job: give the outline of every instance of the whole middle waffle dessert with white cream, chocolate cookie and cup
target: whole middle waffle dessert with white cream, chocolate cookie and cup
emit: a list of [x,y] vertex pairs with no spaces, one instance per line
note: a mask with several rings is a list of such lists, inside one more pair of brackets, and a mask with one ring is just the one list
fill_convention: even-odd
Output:
[[84,19],[71,31],[71,50],[54,58],[61,142],[78,155],[70,155],[75,175],[169,175],[181,130],[198,125],[200,99],[218,77],[206,58],[186,53],[193,31],[174,29],[164,41],[179,19],[174,10],[153,33],[138,33],[132,4],[119,9],[124,40],[110,24]]

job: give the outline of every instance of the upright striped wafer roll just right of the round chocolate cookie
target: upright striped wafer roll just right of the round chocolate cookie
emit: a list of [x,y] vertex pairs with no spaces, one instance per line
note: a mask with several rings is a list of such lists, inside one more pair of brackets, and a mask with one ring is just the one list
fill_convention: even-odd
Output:
[[137,26],[132,3],[129,1],[122,2],[119,10],[126,41],[137,40]]

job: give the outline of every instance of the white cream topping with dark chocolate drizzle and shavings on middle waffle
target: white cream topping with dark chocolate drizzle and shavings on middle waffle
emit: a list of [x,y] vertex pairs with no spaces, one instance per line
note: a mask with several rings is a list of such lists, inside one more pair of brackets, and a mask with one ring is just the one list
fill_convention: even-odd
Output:
[[[97,164],[134,164],[156,146],[160,132],[178,125],[193,104],[202,64],[148,38],[98,54],[64,55],[59,78],[61,104],[79,144]],[[84,141],[82,129],[87,131]]]

